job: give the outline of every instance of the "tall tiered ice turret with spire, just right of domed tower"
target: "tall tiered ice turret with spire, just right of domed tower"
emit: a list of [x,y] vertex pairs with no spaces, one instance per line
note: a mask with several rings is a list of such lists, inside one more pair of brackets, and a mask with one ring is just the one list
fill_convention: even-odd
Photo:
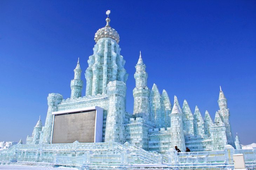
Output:
[[149,120],[150,117],[150,89],[147,87],[148,73],[146,72],[146,65],[142,61],[141,52],[140,57],[135,65],[136,72],[134,79],[136,87],[133,89],[134,108],[133,114],[135,117],[142,117]]

